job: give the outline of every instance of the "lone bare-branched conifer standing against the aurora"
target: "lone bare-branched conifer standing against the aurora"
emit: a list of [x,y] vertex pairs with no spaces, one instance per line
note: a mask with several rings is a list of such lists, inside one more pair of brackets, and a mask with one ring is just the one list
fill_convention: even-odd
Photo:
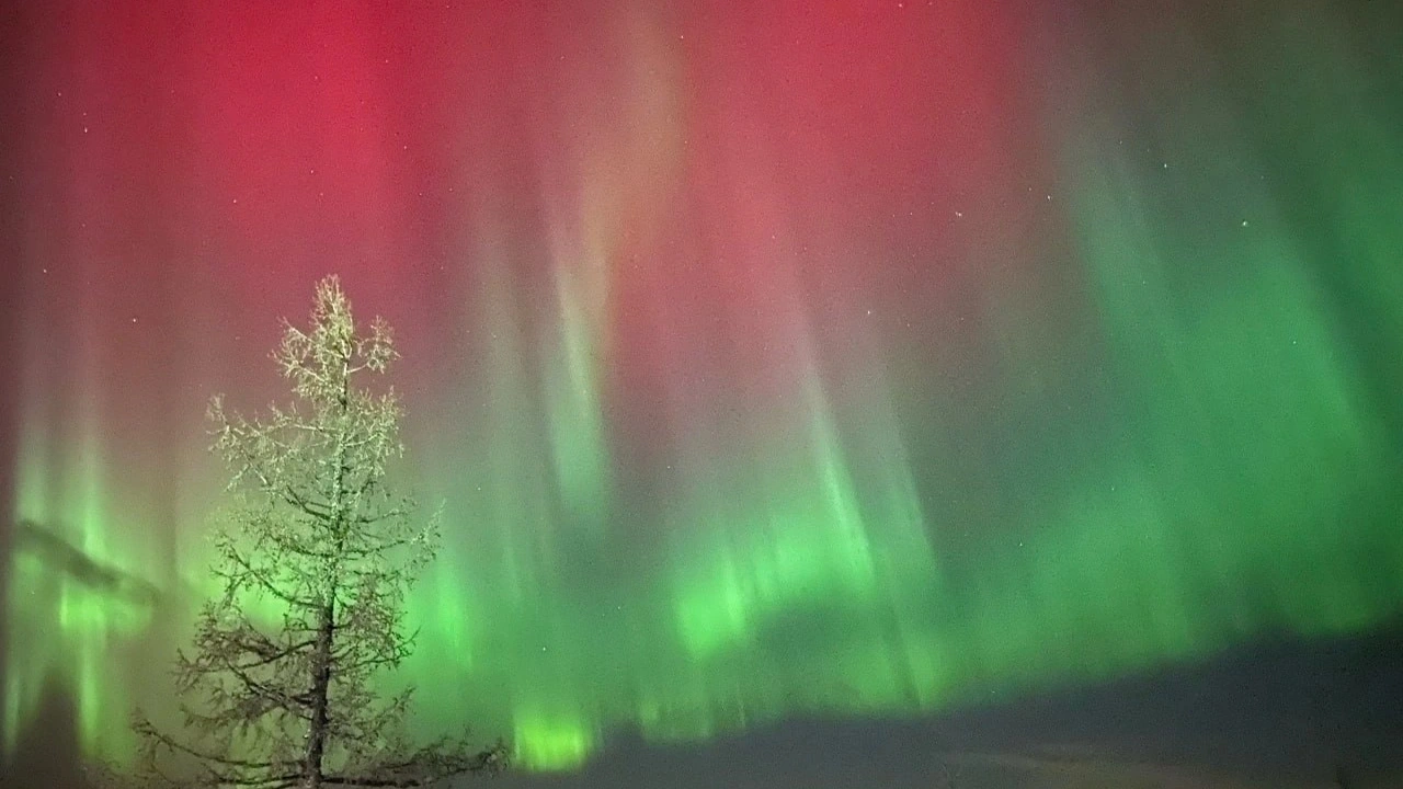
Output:
[[[247,420],[210,403],[215,451],[234,497],[215,538],[223,594],[202,608],[177,658],[185,737],[145,717],[150,778],[189,786],[317,789],[422,786],[505,767],[501,743],[466,733],[414,748],[411,691],[383,698],[375,677],[410,654],[404,598],[436,549],[438,517],[415,526],[411,498],[386,486],[403,453],[401,409],[359,385],[397,358],[379,317],[358,333],[335,277],[317,284],[307,330],[285,323],[272,354],[293,403]],[[262,616],[253,612],[261,611]]]

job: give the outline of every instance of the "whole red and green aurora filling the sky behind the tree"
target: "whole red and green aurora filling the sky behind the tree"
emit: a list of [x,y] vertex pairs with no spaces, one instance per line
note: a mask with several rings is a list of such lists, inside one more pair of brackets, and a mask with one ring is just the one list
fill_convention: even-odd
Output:
[[13,10],[3,747],[129,754],[328,272],[443,503],[418,730],[530,769],[1396,619],[1389,6]]

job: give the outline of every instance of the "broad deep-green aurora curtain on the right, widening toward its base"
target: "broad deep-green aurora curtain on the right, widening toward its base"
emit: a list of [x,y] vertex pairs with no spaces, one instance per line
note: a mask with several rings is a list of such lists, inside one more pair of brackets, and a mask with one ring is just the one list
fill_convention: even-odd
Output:
[[[992,677],[1094,678],[1397,611],[1397,448],[1368,373],[1230,117],[1208,86],[1181,90],[1193,132],[1166,124],[1157,157],[1086,107],[1068,132],[1079,254],[1134,418],[1017,550],[974,562],[961,618]],[[1037,657],[1049,633],[1066,649],[1052,665]]]

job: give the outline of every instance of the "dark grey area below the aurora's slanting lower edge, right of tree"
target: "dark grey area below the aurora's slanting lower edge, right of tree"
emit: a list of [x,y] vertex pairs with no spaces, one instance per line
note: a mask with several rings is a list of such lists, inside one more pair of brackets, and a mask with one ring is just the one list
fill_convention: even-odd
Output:
[[557,789],[1403,788],[1403,628],[1282,642],[919,722],[791,722],[696,747],[622,740]]

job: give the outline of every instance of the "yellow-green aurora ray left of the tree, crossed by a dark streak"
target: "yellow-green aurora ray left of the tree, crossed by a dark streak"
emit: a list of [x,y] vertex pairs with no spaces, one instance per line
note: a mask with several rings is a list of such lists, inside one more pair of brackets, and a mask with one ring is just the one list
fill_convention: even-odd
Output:
[[[86,298],[84,298],[86,296]],[[91,289],[77,298],[87,310]],[[152,619],[156,599],[140,569],[149,545],[132,524],[114,514],[111,451],[97,382],[101,341],[93,333],[48,334],[25,348],[28,417],[17,462],[13,564],[10,577],[10,654],[6,674],[4,744],[15,747],[29,719],[56,688],[70,695],[74,736],[83,748],[125,752],[132,736],[111,722],[133,702],[126,682],[133,639]],[[76,386],[39,372],[42,354],[67,348]],[[86,393],[86,394],[84,394]],[[66,424],[39,417],[70,406]],[[123,528],[125,526],[125,528]],[[118,533],[129,535],[119,539]],[[116,665],[114,665],[116,663]],[[65,688],[65,684],[67,687]]]

